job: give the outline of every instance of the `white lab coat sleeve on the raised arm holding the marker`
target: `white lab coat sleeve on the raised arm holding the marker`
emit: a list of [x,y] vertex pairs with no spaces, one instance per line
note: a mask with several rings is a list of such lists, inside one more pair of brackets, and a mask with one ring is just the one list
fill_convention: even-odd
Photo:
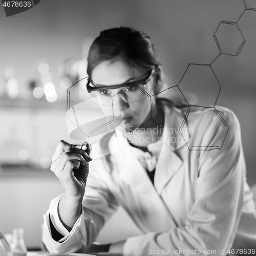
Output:
[[[93,163],[93,161],[95,161]],[[56,208],[60,197],[52,200],[44,215],[42,240],[51,253],[86,252],[97,238],[99,230],[118,207],[117,200],[107,187],[108,174],[102,169],[100,160],[90,163],[90,173],[86,185],[86,193],[82,201],[82,212],[72,230],[68,232],[57,219]],[[51,236],[49,214],[55,228],[63,234],[59,241]]]

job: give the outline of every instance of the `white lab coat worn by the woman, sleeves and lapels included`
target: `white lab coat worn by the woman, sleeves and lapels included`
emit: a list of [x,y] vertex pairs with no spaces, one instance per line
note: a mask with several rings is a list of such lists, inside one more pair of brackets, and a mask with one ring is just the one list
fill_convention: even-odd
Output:
[[[256,248],[256,210],[237,117],[223,107],[190,110],[188,116],[165,107],[164,113],[154,185],[127,141],[112,154],[111,168],[105,159],[94,159],[82,214],[70,233],[62,232],[62,243],[51,238],[49,228],[49,212],[56,211],[60,197],[45,215],[43,241],[50,252],[90,245],[118,205],[144,233],[126,240],[125,256],[225,255],[229,248]],[[94,145],[96,150],[102,147]]]

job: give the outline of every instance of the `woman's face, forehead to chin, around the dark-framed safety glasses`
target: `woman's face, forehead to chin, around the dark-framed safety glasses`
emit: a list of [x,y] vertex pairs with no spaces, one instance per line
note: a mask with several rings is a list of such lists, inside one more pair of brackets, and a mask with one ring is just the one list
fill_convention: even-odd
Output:
[[[129,63],[122,60],[103,61],[96,66],[92,71],[92,80],[102,86],[113,86],[125,82],[132,82],[134,79],[138,80],[147,74],[141,68],[132,67]],[[134,131],[141,126],[146,119],[149,119],[151,110],[151,99],[146,94],[143,94],[138,89],[135,89],[135,97],[139,100],[128,99],[124,95],[124,90],[120,92],[119,89],[111,89],[113,96],[113,105],[103,106],[106,115],[121,116],[124,120],[125,128],[129,131]],[[143,87],[148,94],[153,95],[153,79]],[[119,93],[118,93],[119,92]],[[92,92],[93,94],[93,92]],[[136,96],[137,95],[137,96]]]

